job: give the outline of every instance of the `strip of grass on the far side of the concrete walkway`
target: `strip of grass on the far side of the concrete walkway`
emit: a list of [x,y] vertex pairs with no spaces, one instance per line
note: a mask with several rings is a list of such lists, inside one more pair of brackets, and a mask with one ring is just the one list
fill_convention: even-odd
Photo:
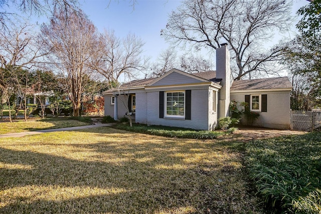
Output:
[[56,128],[66,128],[74,126],[85,126],[91,124],[91,119],[80,119],[83,121],[66,118],[51,118],[51,119],[37,119],[28,121],[17,121],[17,122],[1,122],[0,123],[0,134],[8,133],[18,133],[25,131],[36,131],[45,129],[56,129]]

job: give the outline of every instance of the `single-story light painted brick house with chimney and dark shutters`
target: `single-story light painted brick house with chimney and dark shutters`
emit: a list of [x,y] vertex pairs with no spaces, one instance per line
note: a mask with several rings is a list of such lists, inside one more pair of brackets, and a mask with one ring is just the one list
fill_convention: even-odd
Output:
[[216,71],[194,74],[172,69],[158,78],[105,91],[105,115],[118,119],[128,107],[136,123],[213,130],[219,118],[229,115],[230,100],[235,100],[247,101],[252,111],[260,112],[255,125],[289,128],[288,78],[240,80],[231,86],[226,46],[216,50],[216,65]]

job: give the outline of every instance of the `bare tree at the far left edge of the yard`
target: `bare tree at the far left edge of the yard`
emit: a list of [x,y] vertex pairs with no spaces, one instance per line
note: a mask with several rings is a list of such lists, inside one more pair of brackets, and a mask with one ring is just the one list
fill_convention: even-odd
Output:
[[[10,85],[5,84],[3,88],[7,87],[7,89],[3,90],[7,93],[14,89],[23,97],[25,120],[27,120],[26,99],[32,86],[31,73],[28,70],[37,65],[47,54],[40,53],[42,43],[37,41],[32,29],[32,25],[18,22],[15,25],[8,25],[7,29],[0,30],[0,66],[2,72],[7,73],[10,78],[10,81],[7,81]],[[9,96],[10,93],[7,95]]]

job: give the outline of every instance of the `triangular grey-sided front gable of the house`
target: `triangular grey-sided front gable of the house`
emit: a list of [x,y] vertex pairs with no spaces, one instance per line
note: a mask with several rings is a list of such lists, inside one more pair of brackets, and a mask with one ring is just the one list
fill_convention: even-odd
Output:
[[154,81],[148,84],[148,86],[166,86],[166,85],[178,85],[178,84],[191,84],[208,82],[208,80],[196,75],[188,74],[177,69],[171,69],[161,77],[156,78]]

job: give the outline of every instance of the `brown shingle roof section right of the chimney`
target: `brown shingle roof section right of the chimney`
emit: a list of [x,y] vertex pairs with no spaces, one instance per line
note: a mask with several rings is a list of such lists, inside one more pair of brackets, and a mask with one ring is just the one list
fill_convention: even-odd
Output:
[[260,90],[260,89],[285,89],[292,88],[292,84],[287,77],[236,80],[233,82],[231,91],[238,90]]

